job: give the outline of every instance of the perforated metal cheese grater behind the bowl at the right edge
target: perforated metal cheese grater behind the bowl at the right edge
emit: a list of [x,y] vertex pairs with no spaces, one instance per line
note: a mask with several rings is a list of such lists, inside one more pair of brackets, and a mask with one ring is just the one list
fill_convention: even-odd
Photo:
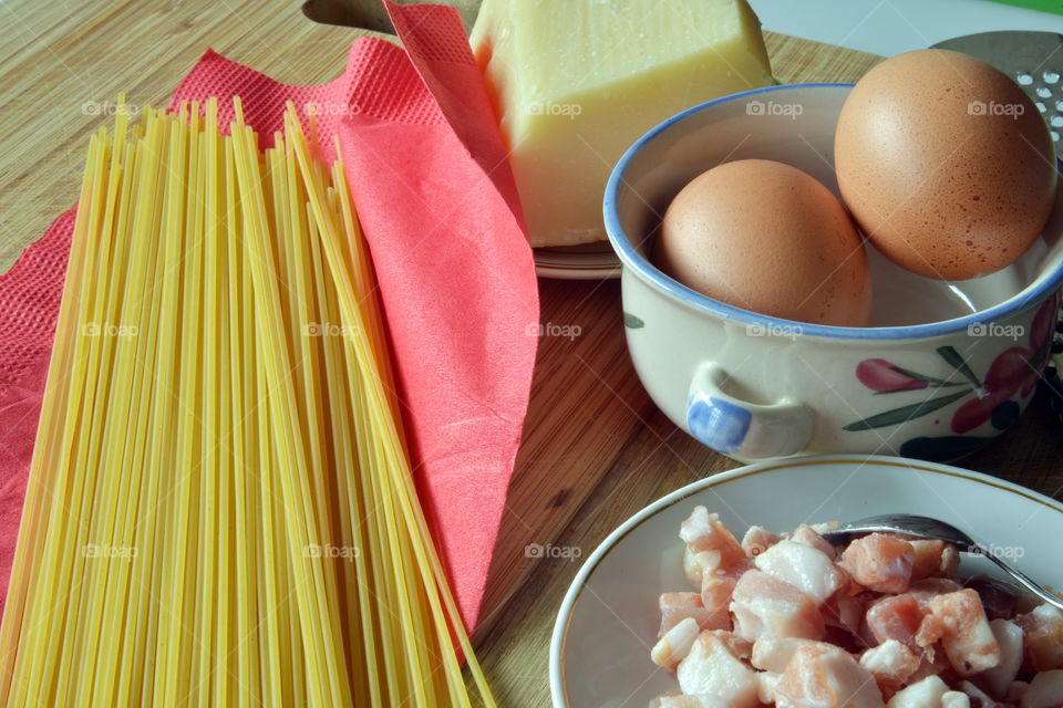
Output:
[[[1059,157],[1063,136],[1063,35],[1055,32],[982,32],[938,42],[931,49],[949,49],[976,56],[1015,80],[1044,116]],[[1056,163],[1059,164],[1059,162]],[[1063,323],[1056,325],[1052,355],[1044,369],[1050,402],[1063,420]]]

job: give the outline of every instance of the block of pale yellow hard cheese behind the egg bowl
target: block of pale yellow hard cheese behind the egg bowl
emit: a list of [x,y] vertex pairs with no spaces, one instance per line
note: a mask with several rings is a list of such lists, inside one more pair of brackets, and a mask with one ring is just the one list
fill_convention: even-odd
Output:
[[606,181],[639,136],[773,83],[745,0],[484,0],[471,41],[533,246],[606,238]]

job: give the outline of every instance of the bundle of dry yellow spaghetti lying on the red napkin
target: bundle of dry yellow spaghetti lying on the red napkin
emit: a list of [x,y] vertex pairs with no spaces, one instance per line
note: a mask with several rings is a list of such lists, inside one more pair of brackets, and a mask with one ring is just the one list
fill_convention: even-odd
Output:
[[[494,705],[417,501],[343,166],[289,105],[92,138],[8,706]],[[455,644],[457,648],[455,648]]]

